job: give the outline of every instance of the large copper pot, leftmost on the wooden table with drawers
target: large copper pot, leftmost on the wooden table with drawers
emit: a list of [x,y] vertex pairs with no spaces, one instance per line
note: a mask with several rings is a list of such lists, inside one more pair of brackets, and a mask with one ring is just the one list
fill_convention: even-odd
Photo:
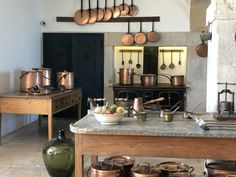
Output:
[[43,72],[39,70],[21,71],[20,91],[28,92],[35,86],[43,88]]

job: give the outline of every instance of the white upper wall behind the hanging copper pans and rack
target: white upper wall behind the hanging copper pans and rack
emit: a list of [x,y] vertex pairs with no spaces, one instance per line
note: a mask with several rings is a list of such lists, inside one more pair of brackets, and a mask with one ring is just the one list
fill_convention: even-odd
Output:
[[[84,2],[87,9],[88,1]],[[100,6],[104,7],[104,0]],[[130,1],[125,1],[127,4]],[[117,1],[121,4],[122,1]],[[186,32],[189,31],[190,3],[186,0],[136,0],[135,5],[139,8],[137,16],[160,16],[160,22],[155,23],[155,30],[159,32]],[[96,1],[91,1],[92,7]],[[113,6],[113,1],[108,0],[108,6]],[[126,32],[126,23],[96,23],[85,26],[70,22],[56,22],[57,16],[73,17],[76,10],[80,9],[80,0],[43,0],[43,20],[46,22],[44,31],[73,31],[73,32]],[[151,23],[143,24],[143,31],[150,31]],[[139,23],[131,24],[131,32],[139,31]]]

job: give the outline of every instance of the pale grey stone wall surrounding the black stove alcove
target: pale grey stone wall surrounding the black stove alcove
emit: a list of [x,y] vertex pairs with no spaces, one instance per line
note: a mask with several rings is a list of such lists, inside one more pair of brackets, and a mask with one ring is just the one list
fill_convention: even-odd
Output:
[[[123,33],[105,33],[104,96],[113,100],[111,85],[114,84],[114,46],[121,44]],[[207,59],[196,54],[200,43],[199,32],[159,33],[160,39],[152,46],[187,46],[187,110],[192,110],[202,103],[198,111],[205,111],[206,103],[206,68]]]

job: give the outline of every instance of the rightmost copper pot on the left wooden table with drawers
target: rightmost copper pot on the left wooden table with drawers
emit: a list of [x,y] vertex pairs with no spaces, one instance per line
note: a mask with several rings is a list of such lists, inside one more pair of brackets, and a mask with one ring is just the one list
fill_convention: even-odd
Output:
[[63,86],[65,89],[74,88],[74,73],[73,72],[57,72],[57,85]]

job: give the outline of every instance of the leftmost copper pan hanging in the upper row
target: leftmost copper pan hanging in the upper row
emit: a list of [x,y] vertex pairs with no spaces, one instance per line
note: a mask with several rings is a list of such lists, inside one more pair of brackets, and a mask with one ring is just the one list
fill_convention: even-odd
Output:
[[89,21],[89,11],[83,9],[83,0],[81,0],[81,9],[75,12],[74,21],[78,25],[85,25]]

